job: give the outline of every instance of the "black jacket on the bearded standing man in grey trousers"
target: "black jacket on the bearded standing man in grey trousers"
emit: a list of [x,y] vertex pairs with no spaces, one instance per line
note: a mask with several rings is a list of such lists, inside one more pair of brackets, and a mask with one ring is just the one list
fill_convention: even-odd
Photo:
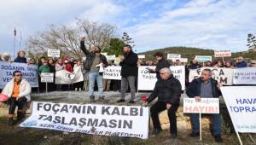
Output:
[[119,63],[121,66],[121,76],[137,76],[137,54],[131,51],[128,55],[124,54],[124,56],[125,60]]

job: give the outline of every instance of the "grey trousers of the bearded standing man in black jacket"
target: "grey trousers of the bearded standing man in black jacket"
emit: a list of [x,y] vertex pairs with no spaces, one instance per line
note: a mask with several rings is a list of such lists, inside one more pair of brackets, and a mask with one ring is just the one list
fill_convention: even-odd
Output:
[[125,92],[128,88],[128,84],[131,89],[131,101],[134,101],[135,98],[135,76],[122,77],[121,79],[121,99],[125,100]]

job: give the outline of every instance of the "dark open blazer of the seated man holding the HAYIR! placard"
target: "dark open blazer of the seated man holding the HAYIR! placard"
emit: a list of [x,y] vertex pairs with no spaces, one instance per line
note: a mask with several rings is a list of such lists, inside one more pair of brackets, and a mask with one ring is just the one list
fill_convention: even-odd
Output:
[[[218,98],[218,96],[221,96],[221,92],[218,89],[218,82],[211,78],[211,83],[212,83],[212,96],[214,98]],[[200,96],[201,95],[201,78],[195,78],[190,84],[189,87],[186,91],[187,96],[190,98],[194,98],[195,96]]]

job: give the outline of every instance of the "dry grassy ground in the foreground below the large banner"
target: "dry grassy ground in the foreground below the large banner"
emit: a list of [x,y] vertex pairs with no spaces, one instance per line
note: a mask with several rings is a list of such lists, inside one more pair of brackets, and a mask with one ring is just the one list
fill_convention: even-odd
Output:
[[[49,95],[48,95],[49,96]],[[41,98],[33,98],[37,101],[50,101],[50,102],[81,102],[80,100],[74,101],[74,99],[68,99],[59,95],[60,97],[47,97],[42,96]],[[79,95],[76,95],[79,98]],[[83,97],[81,97],[84,99]],[[113,100],[113,99],[111,99]],[[86,102],[86,101],[83,101]],[[108,102],[109,104],[114,103]],[[214,142],[214,138],[211,136],[210,131],[203,131],[202,141],[199,141],[199,137],[189,137],[190,131],[178,131],[177,139],[171,139],[169,131],[162,131],[159,136],[152,136],[150,133],[148,140],[142,140],[139,138],[131,137],[118,137],[118,136],[91,136],[79,133],[63,133],[62,131],[50,131],[34,128],[20,128],[16,123],[14,126],[8,125],[7,114],[9,106],[0,105],[0,145],[161,145],[161,144],[181,144],[181,145],[213,145],[217,144]],[[227,119],[224,119],[227,120]],[[239,144],[236,137],[236,133],[232,132],[232,129],[225,121],[223,125],[223,139],[224,142],[221,144]],[[253,135],[256,140],[256,135]],[[244,144],[253,144],[252,140],[247,134],[241,134],[241,140]],[[256,143],[254,143],[256,144]]]

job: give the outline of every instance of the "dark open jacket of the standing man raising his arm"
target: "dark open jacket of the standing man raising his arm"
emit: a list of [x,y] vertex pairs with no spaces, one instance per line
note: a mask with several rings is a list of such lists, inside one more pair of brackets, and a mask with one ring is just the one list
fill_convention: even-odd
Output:
[[[95,53],[89,52],[89,50],[85,48],[84,41],[81,41],[81,42],[80,42],[80,49],[84,52],[84,55],[86,55],[86,60],[85,60],[85,62],[83,63],[84,69],[85,69],[86,71],[90,71],[90,67],[91,67],[92,62],[93,62],[93,60],[94,60],[94,58],[95,58]],[[101,61],[103,62],[104,67],[108,67],[108,61],[107,61],[105,55],[102,55],[102,54],[101,54],[101,55],[100,55],[100,59],[101,59]]]

